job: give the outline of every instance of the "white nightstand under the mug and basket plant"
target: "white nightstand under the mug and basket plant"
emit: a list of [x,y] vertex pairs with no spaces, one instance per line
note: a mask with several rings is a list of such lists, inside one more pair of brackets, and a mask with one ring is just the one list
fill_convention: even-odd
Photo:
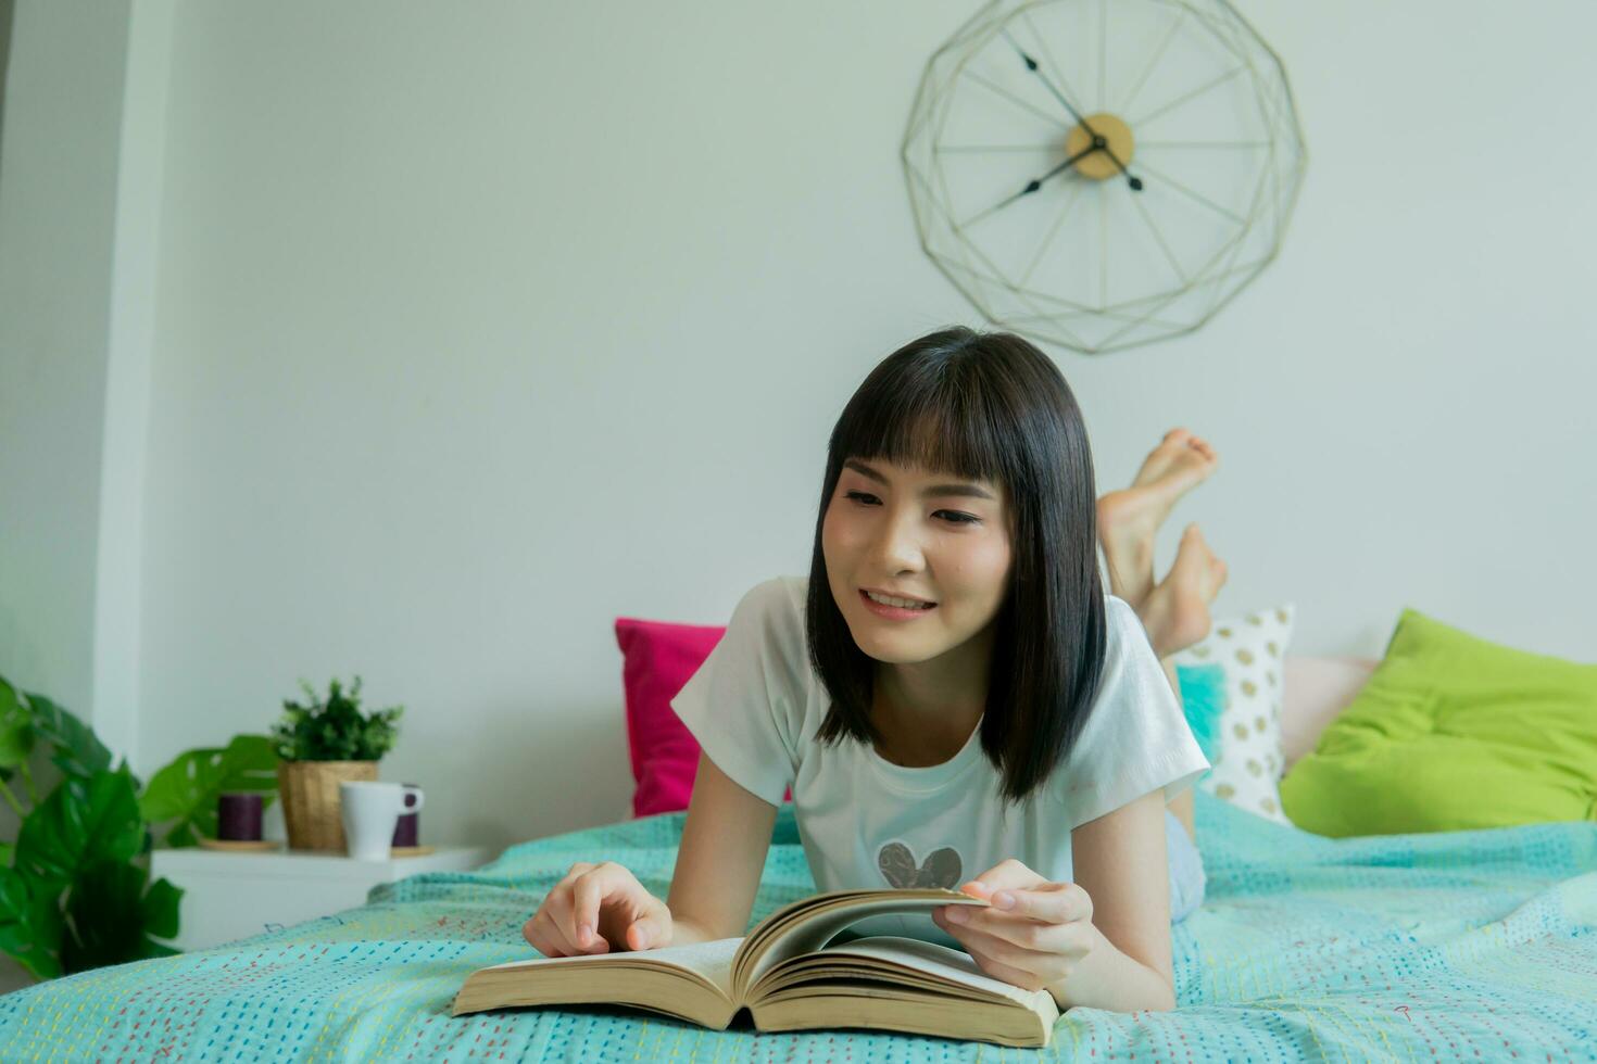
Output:
[[179,949],[208,949],[366,903],[366,892],[420,873],[485,865],[484,847],[438,847],[422,857],[358,861],[331,853],[155,850],[150,877],[184,889]]

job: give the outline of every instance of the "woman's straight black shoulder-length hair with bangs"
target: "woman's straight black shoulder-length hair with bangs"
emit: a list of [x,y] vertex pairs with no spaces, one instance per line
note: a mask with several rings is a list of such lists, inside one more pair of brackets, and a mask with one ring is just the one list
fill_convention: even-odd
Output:
[[1104,672],[1097,491],[1076,399],[1054,362],[1003,332],[952,327],[904,345],[848,400],[826,458],[810,562],[810,660],[832,697],[818,739],[875,743],[877,660],[832,598],[821,528],[843,461],[882,459],[1000,483],[1014,544],[998,608],[981,743],[1020,802],[1064,763]]

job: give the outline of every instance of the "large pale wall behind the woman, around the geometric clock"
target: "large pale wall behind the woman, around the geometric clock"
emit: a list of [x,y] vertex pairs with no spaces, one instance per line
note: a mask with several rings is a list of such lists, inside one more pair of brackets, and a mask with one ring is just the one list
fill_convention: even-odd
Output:
[[[1102,485],[1214,440],[1161,571],[1198,520],[1219,611],[1297,601],[1300,652],[1378,654],[1412,605],[1591,659],[1597,10],[1242,6],[1308,180],[1203,330],[1056,351]],[[979,324],[898,161],[973,10],[179,3],[137,767],[361,672],[431,841],[615,818],[613,617],[805,571],[853,388]]]

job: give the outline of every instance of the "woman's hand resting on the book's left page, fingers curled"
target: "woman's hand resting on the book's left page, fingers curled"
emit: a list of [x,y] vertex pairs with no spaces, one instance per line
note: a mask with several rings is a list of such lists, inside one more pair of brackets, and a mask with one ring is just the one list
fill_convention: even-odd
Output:
[[521,928],[545,957],[671,944],[671,909],[615,861],[578,861]]

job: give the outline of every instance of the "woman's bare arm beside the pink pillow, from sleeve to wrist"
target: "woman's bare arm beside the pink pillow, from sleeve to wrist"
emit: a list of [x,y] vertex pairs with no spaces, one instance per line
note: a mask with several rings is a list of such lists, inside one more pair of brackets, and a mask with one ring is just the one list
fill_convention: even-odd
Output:
[[775,825],[776,806],[733,783],[699,753],[666,901],[674,946],[747,930]]

